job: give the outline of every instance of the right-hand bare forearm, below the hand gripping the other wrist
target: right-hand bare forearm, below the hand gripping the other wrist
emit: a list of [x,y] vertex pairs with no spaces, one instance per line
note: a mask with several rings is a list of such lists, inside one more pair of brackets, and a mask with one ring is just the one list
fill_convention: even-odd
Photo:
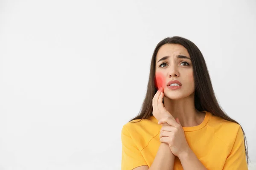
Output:
[[183,170],[207,170],[190,148],[186,153],[179,156],[179,159]]

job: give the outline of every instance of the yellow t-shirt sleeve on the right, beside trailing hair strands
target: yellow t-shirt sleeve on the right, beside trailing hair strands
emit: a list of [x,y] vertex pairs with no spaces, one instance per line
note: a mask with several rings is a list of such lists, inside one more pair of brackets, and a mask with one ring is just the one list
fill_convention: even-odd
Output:
[[248,170],[241,127],[239,127],[233,148],[225,161],[223,170]]

